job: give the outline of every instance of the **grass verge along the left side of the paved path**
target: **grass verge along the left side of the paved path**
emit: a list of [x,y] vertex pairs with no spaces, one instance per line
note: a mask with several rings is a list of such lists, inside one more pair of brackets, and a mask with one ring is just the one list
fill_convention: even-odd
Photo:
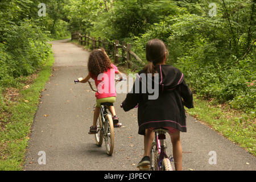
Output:
[[[51,75],[51,67],[54,63],[53,54],[49,56],[46,64],[36,73],[36,78],[31,76],[20,79],[23,81],[18,89],[16,99],[8,99],[2,93],[0,98],[0,170],[22,170],[24,156],[28,140],[30,139],[30,129],[34,120],[34,115],[38,108],[39,96]],[[24,85],[31,83],[29,88]],[[8,88],[6,89],[8,90]]]

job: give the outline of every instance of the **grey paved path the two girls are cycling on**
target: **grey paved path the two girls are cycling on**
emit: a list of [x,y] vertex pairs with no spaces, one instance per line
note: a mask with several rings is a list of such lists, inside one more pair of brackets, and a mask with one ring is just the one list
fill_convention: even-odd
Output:
[[[73,83],[75,78],[87,75],[89,52],[68,40],[52,42],[52,48],[53,76],[42,92],[24,170],[137,170],[135,165],[143,154],[143,137],[137,134],[137,109],[125,113],[118,106],[126,95],[118,94],[115,108],[123,127],[115,129],[113,156],[106,155],[104,144],[97,147],[94,135],[88,134],[94,92],[88,84]],[[254,156],[189,115],[187,128],[187,133],[181,133],[184,170],[256,169]],[[167,143],[170,154],[170,138]],[[39,151],[46,152],[46,165],[38,164]],[[209,164],[210,151],[216,151],[216,165]]]

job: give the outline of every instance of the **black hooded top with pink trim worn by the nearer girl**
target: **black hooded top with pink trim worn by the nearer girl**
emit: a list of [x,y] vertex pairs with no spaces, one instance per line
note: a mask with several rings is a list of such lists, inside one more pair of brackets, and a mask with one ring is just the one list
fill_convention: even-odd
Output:
[[[141,135],[144,135],[145,129],[150,127],[170,126],[181,132],[187,132],[184,106],[193,107],[193,96],[185,84],[183,73],[171,65],[156,65],[155,70],[159,75],[152,79],[147,76],[143,77],[143,70],[138,73],[133,89],[122,102],[123,110],[129,111],[138,104],[138,133]],[[158,80],[156,80],[157,78]],[[148,81],[148,79],[150,80]],[[155,81],[159,87],[159,96],[150,100],[148,96],[152,96],[154,93],[148,89],[143,92],[142,88],[143,86],[147,88],[150,82],[152,82],[151,88],[154,88]],[[139,93],[135,92],[136,85],[139,85]]]

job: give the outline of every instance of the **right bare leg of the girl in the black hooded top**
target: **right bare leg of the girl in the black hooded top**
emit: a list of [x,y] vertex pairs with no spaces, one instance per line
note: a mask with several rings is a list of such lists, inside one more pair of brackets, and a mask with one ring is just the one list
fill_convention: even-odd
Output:
[[174,154],[174,165],[176,171],[182,171],[182,148],[180,141],[180,131],[171,134],[172,152]]

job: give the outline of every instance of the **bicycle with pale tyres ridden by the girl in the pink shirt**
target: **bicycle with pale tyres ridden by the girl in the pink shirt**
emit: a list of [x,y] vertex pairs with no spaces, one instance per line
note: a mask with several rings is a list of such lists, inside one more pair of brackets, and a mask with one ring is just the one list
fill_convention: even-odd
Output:
[[[115,81],[122,81],[122,80],[123,78],[115,78]],[[79,80],[75,80],[75,84],[78,82]],[[94,80],[89,80],[88,84],[94,92],[97,92],[97,89],[93,88],[91,84],[92,82],[94,82]],[[108,114],[108,106],[113,106],[113,103],[111,102],[101,103],[100,115],[97,119],[97,132],[95,134],[95,140],[96,140],[96,145],[101,147],[104,139],[106,154],[112,155],[114,151],[114,124],[113,124],[113,119],[111,114]],[[95,107],[96,106],[94,105],[94,108]]]

